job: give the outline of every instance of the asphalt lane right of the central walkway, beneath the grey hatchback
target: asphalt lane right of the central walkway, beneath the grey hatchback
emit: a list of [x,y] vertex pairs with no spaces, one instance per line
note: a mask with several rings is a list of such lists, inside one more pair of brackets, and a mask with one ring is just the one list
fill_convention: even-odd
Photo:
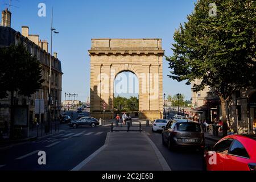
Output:
[[[153,133],[151,127],[142,127],[148,137],[155,143],[158,150],[162,153],[164,159],[173,171],[202,171],[203,155],[192,149],[179,149],[170,151],[162,144],[162,134]],[[206,145],[213,146],[215,143],[206,140]]]

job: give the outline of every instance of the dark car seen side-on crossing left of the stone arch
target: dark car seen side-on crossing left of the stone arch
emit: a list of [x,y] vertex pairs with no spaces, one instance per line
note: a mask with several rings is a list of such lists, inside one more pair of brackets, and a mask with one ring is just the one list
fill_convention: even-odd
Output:
[[98,119],[93,117],[83,117],[76,121],[71,121],[71,123],[69,123],[69,126],[73,128],[77,128],[79,126],[96,127],[98,125],[100,125],[100,122],[98,121]]

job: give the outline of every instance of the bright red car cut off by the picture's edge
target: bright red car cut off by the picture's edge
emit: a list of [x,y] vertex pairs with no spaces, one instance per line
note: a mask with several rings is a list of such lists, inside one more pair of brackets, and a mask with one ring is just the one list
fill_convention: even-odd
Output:
[[256,135],[229,135],[205,151],[208,171],[256,171]]

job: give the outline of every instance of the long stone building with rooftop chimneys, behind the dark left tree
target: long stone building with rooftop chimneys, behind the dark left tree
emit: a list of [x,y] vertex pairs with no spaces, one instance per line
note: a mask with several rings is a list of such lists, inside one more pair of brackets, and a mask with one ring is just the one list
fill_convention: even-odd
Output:
[[[7,14],[7,15],[6,15]],[[33,119],[36,117],[38,121],[46,123],[49,120],[49,64],[51,55],[48,52],[48,42],[40,40],[39,35],[29,34],[27,26],[22,27],[21,33],[10,27],[11,13],[8,10],[2,12],[2,26],[0,26],[0,47],[9,47],[11,44],[22,43],[32,56],[38,57],[42,67],[42,77],[45,81],[42,89],[38,90],[30,98],[19,96],[15,93],[15,105],[28,107],[28,126],[32,125]],[[6,19],[7,18],[7,19]],[[52,56],[52,76],[51,76],[51,121],[56,119],[61,110],[61,90],[62,90],[62,71],[61,61],[57,59],[57,53]],[[35,113],[35,100],[44,101],[43,113]],[[10,125],[10,96],[0,100],[0,127],[5,121]],[[25,129],[28,129],[24,127]]]

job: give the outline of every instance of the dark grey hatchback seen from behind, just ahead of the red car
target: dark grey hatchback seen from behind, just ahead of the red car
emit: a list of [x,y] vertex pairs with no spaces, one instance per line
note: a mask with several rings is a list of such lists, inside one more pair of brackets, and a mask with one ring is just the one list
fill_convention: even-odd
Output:
[[183,120],[171,120],[162,133],[162,142],[172,150],[175,147],[195,147],[204,151],[204,132],[199,123]]

